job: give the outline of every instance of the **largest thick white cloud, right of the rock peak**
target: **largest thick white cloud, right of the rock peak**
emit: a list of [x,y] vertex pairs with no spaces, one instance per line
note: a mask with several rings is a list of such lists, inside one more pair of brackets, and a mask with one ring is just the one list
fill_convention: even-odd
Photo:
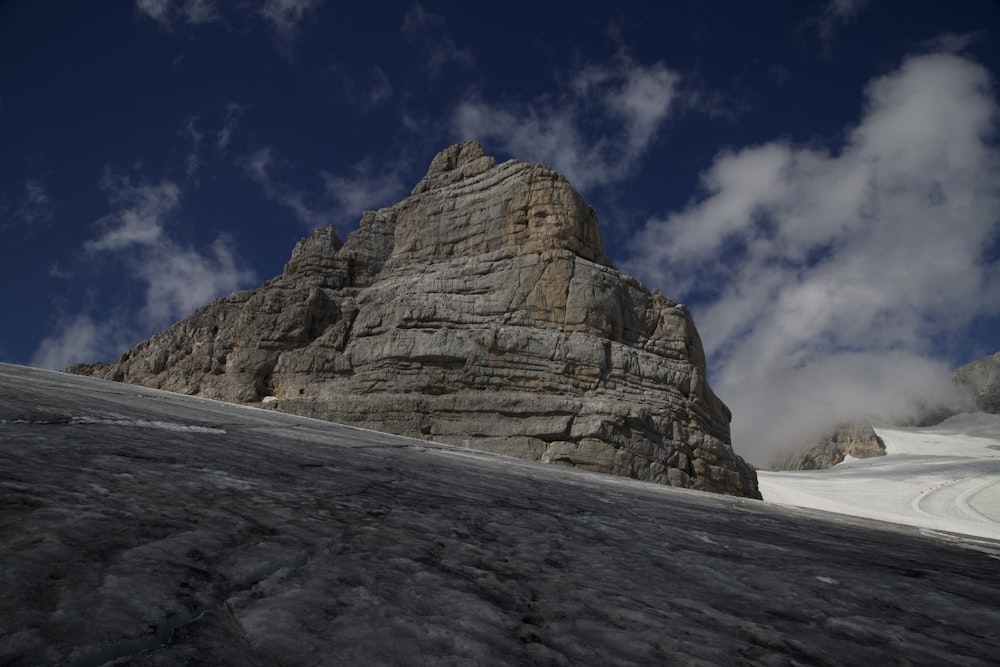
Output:
[[839,150],[718,155],[703,196],[650,220],[626,263],[704,302],[712,383],[733,408],[737,450],[756,462],[804,424],[940,398],[934,344],[1000,311],[1000,264],[985,254],[1000,232],[989,73],[912,57],[865,98]]

